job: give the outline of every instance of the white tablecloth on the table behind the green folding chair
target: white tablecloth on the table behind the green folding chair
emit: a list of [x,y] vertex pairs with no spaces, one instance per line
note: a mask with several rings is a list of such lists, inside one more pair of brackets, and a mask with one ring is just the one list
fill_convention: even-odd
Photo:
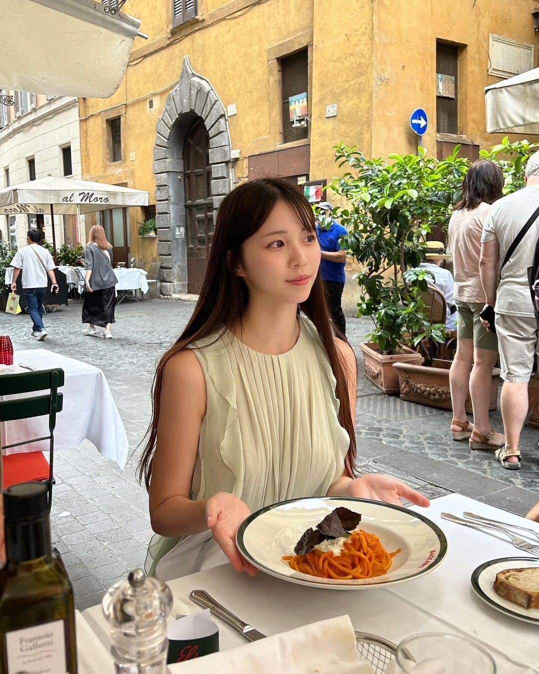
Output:
[[[114,459],[120,468],[125,467],[129,442],[108,382],[100,369],[44,348],[15,351],[13,363],[24,363],[34,369],[63,369],[65,384],[59,389],[63,393],[63,410],[56,419],[56,449],[70,449],[88,438],[100,454]],[[28,372],[26,369],[18,371]],[[47,417],[0,424],[4,445],[31,437],[44,437],[49,435],[48,429]],[[44,451],[48,448],[48,441],[41,441],[4,450],[4,454]]]

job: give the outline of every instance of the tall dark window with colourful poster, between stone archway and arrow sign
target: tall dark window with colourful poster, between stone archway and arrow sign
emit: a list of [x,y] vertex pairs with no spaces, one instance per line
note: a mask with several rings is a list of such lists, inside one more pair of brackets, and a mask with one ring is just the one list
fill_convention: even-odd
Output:
[[[280,59],[281,91],[282,91],[282,133],[283,143],[307,138],[309,135],[307,117],[296,116],[296,121],[290,120],[290,98],[306,94],[308,89],[308,53],[307,49]],[[305,109],[307,100],[303,104]],[[292,126],[295,124],[294,126]]]

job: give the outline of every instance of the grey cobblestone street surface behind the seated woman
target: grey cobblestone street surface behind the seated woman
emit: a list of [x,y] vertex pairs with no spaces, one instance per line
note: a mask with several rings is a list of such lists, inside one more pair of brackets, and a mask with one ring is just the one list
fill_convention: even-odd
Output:
[[[46,315],[49,337],[30,337],[28,316],[0,314],[0,334],[15,349],[46,348],[96,365],[106,375],[129,438],[125,470],[103,458],[86,441],[55,452],[51,521],[53,542],[63,556],[75,588],[77,607],[98,603],[105,588],[144,563],[150,539],[148,497],[135,479],[137,445],[150,418],[150,385],[157,357],[180,334],[193,311],[187,301],[125,301],[117,308],[112,340],[82,336],[77,301]],[[347,319],[350,342],[359,343],[370,321]],[[490,452],[470,454],[453,443],[450,412],[383,396],[359,367],[358,466],[405,479],[429,497],[457,491],[524,514],[539,501],[539,431],[525,429],[522,469],[508,472]],[[493,425],[502,430],[499,411]]]

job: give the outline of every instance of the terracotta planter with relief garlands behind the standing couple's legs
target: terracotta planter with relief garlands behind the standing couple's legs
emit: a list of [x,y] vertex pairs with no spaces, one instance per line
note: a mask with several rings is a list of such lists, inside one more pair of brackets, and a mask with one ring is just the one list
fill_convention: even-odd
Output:
[[[421,402],[431,407],[451,409],[451,392],[449,390],[449,368],[451,361],[433,360],[433,365],[414,365],[411,363],[395,363],[393,367],[398,371],[400,397],[411,402]],[[498,406],[498,384],[500,371],[493,370],[490,384],[489,410]],[[538,389],[539,392],[539,389]],[[472,414],[470,394],[466,398],[466,412]]]

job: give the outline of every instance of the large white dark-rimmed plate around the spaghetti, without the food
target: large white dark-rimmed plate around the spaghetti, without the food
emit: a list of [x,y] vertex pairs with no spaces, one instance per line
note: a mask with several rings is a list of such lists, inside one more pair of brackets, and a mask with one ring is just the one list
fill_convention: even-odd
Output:
[[[376,534],[388,552],[398,548],[387,574],[360,580],[316,578],[290,568],[284,555],[309,527],[315,526],[335,508],[343,506],[361,514],[360,528]],[[358,590],[412,580],[432,571],[447,554],[443,531],[412,510],[367,499],[323,497],[275,503],[250,515],[236,534],[240,553],[261,571],[292,583],[331,590]]]

